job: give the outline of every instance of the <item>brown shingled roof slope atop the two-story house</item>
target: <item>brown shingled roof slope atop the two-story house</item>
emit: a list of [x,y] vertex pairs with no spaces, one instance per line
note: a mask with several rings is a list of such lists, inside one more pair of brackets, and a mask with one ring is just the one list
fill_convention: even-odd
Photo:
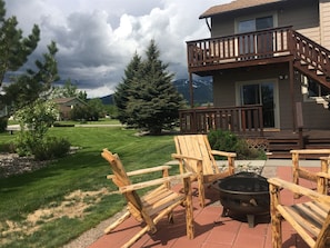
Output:
[[213,6],[203,12],[199,19],[212,17],[219,13],[226,13],[234,10],[247,9],[257,6],[264,6],[269,3],[282,2],[288,0],[234,0],[229,3]]

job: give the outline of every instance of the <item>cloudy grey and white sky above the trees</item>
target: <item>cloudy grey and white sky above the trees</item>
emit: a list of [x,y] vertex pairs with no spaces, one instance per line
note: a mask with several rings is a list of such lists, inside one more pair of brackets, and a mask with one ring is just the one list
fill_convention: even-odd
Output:
[[[133,53],[144,54],[151,39],[176,78],[187,78],[186,41],[209,38],[208,8],[230,0],[4,0],[24,36],[33,24],[41,40],[33,53],[57,42],[59,73],[88,97],[112,93]],[[34,61],[32,59],[32,61]]]

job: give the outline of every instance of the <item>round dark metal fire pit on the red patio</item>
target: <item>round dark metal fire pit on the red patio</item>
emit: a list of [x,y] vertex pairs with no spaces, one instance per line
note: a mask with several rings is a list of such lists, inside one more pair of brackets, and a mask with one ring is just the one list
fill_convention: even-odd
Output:
[[249,227],[254,227],[254,216],[269,214],[269,186],[264,177],[239,172],[212,186],[220,192],[222,216],[247,216]]

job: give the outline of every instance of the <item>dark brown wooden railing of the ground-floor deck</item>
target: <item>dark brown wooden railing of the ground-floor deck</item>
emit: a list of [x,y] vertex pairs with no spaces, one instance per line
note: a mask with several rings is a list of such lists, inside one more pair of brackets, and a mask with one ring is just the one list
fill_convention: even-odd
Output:
[[210,130],[230,130],[244,135],[263,136],[262,106],[224,108],[194,108],[179,111],[182,133],[208,133]]

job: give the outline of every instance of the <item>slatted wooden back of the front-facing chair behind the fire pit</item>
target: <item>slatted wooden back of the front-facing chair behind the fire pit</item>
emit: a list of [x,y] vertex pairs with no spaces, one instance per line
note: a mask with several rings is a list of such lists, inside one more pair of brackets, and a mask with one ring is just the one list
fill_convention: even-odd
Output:
[[[204,175],[218,173],[219,168],[211,155],[211,147],[208,137],[204,135],[187,135],[174,137],[177,152],[180,155],[197,157],[202,159]],[[190,171],[197,171],[197,161],[187,160],[186,167]]]

